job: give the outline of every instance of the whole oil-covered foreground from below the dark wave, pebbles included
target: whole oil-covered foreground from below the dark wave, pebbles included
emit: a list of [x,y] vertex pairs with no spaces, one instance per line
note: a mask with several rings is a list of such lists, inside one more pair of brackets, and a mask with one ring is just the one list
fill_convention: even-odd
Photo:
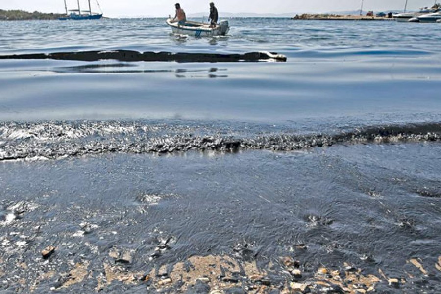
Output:
[[437,150],[8,162],[0,169],[0,289],[436,293]]

